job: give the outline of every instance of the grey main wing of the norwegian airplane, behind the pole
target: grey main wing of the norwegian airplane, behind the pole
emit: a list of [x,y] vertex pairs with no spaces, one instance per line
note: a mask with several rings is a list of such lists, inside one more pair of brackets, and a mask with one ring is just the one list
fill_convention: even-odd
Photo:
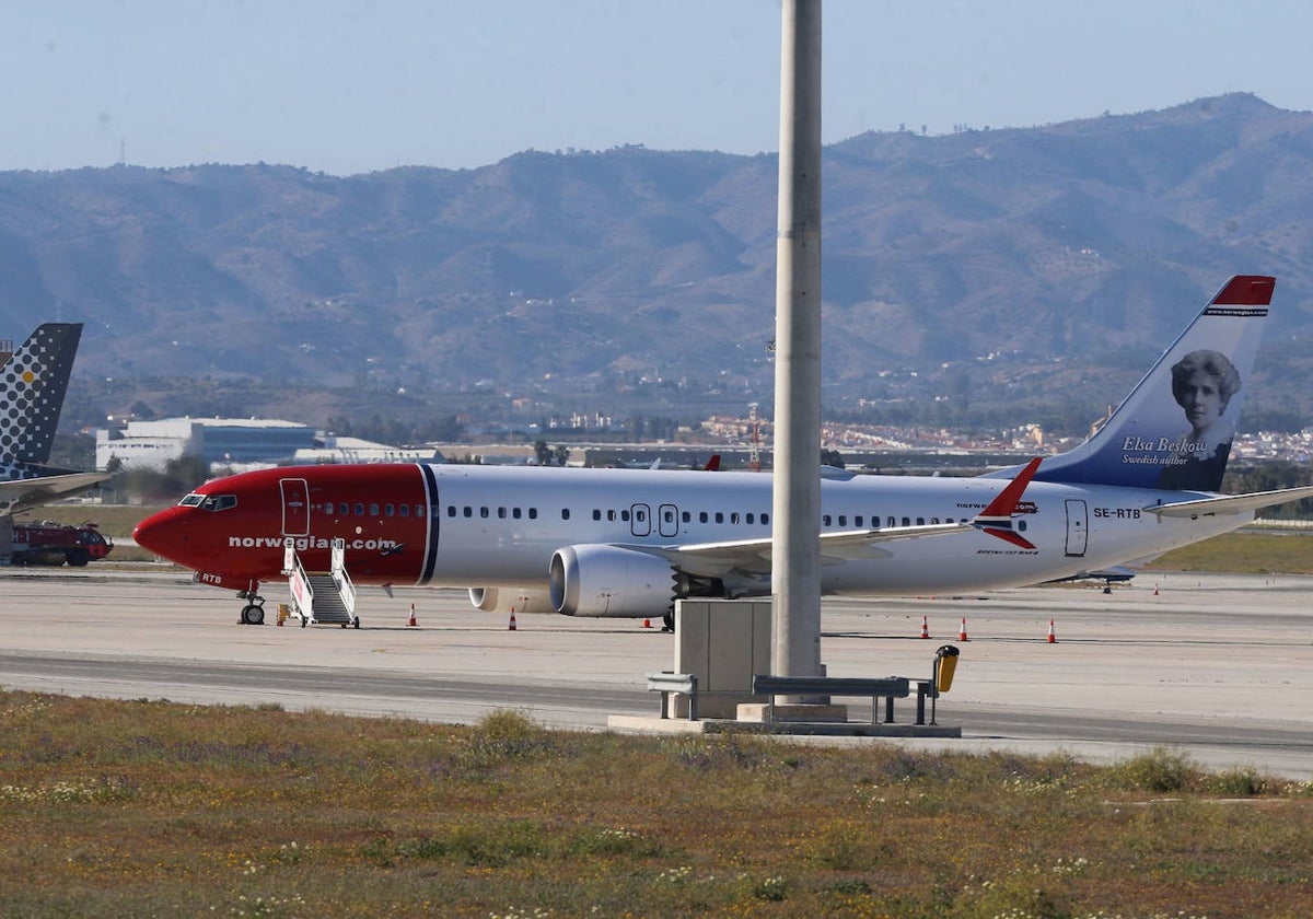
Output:
[[[832,565],[848,559],[882,558],[889,553],[880,547],[881,542],[966,533],[973,529],[976,525],[968,523],[822,533],[821,563]],[[664,546],[656,551],[689,574],[717,576],[733,570],[765,574],[771,570],[773,542],[769,537],[731,542],[696,542],[687,546]]]

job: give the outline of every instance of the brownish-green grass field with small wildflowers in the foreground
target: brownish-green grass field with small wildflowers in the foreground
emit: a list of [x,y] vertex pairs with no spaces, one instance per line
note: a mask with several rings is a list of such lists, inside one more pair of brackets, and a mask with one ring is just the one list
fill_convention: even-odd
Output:
[[0,692],[4,916],[1305,916],[1313,784]]

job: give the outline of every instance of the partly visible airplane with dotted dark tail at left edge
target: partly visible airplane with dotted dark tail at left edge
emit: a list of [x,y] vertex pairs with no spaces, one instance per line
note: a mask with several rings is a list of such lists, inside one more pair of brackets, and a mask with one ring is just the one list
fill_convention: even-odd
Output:
[[109,478],[47,466],[81,323],[45,323],[0,368],[0,516],[87,491]]

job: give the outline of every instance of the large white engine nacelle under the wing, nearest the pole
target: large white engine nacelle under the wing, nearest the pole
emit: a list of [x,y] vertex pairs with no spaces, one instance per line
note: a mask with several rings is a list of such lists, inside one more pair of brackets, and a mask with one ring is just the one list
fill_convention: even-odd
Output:
[[676,596],[670,562],[607,545],[558,549],[551,555],[549,584],[551,605],[566,616],[664,616]]

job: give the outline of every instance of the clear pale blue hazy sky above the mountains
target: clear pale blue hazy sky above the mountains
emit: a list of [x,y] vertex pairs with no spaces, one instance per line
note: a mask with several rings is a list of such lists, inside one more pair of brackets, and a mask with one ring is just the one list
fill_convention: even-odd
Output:
[[[1254,92],[1313,109],[1309,0],[825,0],[826,142]],[[0,169],[779,147],[777,0],[16,0]]]

